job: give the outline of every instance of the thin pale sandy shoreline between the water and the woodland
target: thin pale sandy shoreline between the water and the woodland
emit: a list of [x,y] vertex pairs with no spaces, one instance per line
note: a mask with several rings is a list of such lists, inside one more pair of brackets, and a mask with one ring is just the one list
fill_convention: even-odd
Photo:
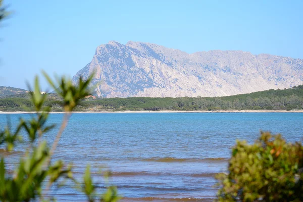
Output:
[[[0,114],[35,114],[36,112],[3,112]],[[49,112],[50,114],[64,114],[66,112]],[[144,113],[303,113],[303,110],[215,110],[215,111],[83,111],[83,112],[72,112],[73,114],[144,114]]]

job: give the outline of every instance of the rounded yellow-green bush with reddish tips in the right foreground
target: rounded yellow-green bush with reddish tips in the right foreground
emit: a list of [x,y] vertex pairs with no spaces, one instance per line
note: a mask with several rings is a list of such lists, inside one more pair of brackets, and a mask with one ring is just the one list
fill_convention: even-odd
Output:
[[262,133],[252,145],[237,141],[229,174],[218,174],[219,201],[303,201],[303,146]]

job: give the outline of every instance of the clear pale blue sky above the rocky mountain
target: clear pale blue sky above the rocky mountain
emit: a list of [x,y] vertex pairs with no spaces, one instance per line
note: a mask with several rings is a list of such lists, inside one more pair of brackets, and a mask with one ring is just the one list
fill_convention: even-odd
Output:
[[[303,59],[303,1],[4,0],[0,85],[26,88],[44,69],[72,77],[110,40]],[[42,81],[45,88],[46,83]]]

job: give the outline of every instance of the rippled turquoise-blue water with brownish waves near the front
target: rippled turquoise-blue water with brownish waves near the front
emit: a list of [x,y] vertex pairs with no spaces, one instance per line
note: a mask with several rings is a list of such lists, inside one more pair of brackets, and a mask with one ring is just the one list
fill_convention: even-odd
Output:
[[[9,119],[14,125],[30,116]],[[1,128],[7,118],[0,115]],[[52,114],[49,123],[60,124],[62,118]],[[48,142],[58,128],[45,134]],[[110,183],[118,186],[124,201],[212,200],[217,192],[214,175],[226,172],[235,140],[252,143],[261,130],[301,141],[303,113],[73,114],[54,157],[73,163],[79,179],[88,163],[94,173],[107,166],[113,172]],[[14,158],[8,157],[8,163],[14,164]],[[95,176],[102,190],[103,177]],[[54,188],[59,201],[85,200],[68,185]]]

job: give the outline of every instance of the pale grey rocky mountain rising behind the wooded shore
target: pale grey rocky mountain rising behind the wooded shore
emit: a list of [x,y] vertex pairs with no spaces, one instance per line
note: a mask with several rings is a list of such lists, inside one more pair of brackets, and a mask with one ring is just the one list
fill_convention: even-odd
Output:
[[110,41],[73,77],[102,97],[225,96],[303,84],[303,60],[242,51],[187,54],[161,45]]

